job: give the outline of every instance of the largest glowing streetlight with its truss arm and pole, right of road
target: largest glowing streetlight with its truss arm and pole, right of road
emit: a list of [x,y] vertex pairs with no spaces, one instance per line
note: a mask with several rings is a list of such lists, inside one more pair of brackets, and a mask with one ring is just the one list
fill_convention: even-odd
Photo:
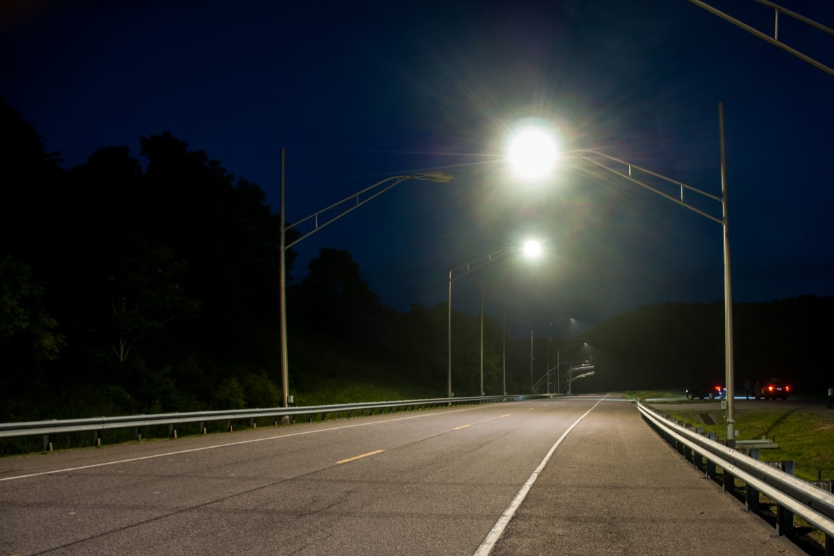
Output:
[[[600,153],[600,151],[596,151],[590,148],[580,148],[570,151],[570,153],[575,154],[578,158],[585,160],[585,162],[595,164],[599,168],[602,168],[610,173],[613,173],[620,178],[625,178],[629,180],[631,183],[635,183],[636,185],[641,186],[642,188],[646,188],[652,193],[656,193],[661,197],[667,198],[674,203],[681,205],[682,207],[688,208],[694,213],[700,214],[704,218],[710,219],[712,222],[716,222],[721,224],[721,229],[723,231],[723,247],[724,247],[724,363],[725,363],[725,373],[726,373],[726,399],[727,399],[727,409],[726,409],[726,425],[727,425],[727,439],[734,440],[736,438],[735,433],[735,423],[736,423],[736,415],[735,415],[735,402],[733,399],[734,394],[734,370],[733,370],[733,340],[732,340],[732,288],[731,288],[731,273],[730,273],[730,235],[729,235],[729,216],[728,216],[728,206],[727,206],[727,187],[726,187],[726,149],[725,149],[725,142],[724,142],[724,105],[723,103],[718,103],[718,127],[719,127],[719,143],[720,143],[720,151],[721,151],[721,197],[713,195],[711,193],[706,193],[701,189],[694,188],[686,183],[682,183],[677,181],[676,179],[667,178],[666,176],[653,172],[646,168],[641,168],[640,166],[636,166],[635,164],[628,163],[625,160],[620,160],[619,158],[611,157],[605,153]],[[520,174],[522,178],[531,179],[531,178],[543,178],[545,173],[550,170],[555,164],[555,160],[559,158],[558,153],[556,155],[550,154],[550,148],[552,145],[555,145],[555,142],[550,142],[547,138],[545,138],[545,133],[541,131],[542,128],[537,128],[539,131],[535,133],[530,133],[530,135],[522,135],[518,133],[510,138],[510,148],[508,151],[508,159],[510,162],[510,166],[515,169],[517,173]],[[522,140],[521,138],[524,138]],[[529,148],[530,152],[527,155],[521,155],[518,150],[520,148]],[[533,160],[538,160],[540,162],[532,162]],[[548,162],[549,161],[549,162]],[[526,164],[529,163],[529,166]],[[612,168],[610,163],[619,164],[624,168],[624,170],[618,170],[616,168]],[[525,171],[524,168],[529,168],[529,170]],[[534,172],[534,168],[538,170]],[[543,170],[546,168],[546,170]],[[656,188],[656,186],[650,185],[641,181],[640,179],[635,178],[634,174],[636,172],[646,174],[647,176],[651,176],[653,178],[660,179],[667,184],[671,184],[675,188],[679,189],[679,193],[676,195],[672,195],[671,193],[666,193],[661,191],[660,189]],[[707,198],[714,201],[721,203],[721,217],[716,217],[710,213],[706,213],[705,211],[701,210],[700,208],[696,208],[696,206],[692,205],[688,202],[685,198],[686,194],[695,193],[696,195],[700,195],[701,198]]]

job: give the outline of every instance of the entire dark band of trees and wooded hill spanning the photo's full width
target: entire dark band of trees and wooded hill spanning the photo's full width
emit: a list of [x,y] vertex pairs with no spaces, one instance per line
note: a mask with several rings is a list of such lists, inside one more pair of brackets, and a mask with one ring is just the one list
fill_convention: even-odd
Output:
[[[2,101],[0,162],[0,421],[279,405],[279,215],[257,184],[170,133],[65,169]],[[287,255],[296,403],[445,395],[445,301],[398,312],[350,253],[323,249],[303,278]],[[736,380],[831,380],[832,299],[737,303]],[[507,339],[507,391],[530,392],[531,356],[537,382],[558,350],[594,358],[575,392],[721,379],[722,312],[650,305],[585,333],[584,353]],[[452,321],[453,389],[476,395],[480,318]],[[487,394],[503,389],[503,335],[487,317]]]

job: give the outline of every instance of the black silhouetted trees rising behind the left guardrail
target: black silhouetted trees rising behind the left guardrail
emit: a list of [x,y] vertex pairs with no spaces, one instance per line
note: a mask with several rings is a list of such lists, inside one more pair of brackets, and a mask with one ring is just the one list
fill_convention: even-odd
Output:
[[[279,405],[279,215],[257,184],[170,133],[64,169],[5,102],[0,142],[0,420]],[[287,255],[297,402],[334,380],[445,392],[444,303],[398,313],[349,253],[302,279]],[[454,321],[472,368],[475,319]]]

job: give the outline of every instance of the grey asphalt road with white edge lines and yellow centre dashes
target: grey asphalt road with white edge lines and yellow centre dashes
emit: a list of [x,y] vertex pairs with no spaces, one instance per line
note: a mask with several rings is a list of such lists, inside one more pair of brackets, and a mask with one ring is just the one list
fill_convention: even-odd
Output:
[[479,550],[801,553],[610,398],[0,459],[0,556]]

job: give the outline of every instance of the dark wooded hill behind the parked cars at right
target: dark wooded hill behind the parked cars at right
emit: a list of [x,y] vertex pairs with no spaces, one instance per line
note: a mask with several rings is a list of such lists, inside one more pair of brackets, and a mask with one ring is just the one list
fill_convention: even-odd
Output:
[[[784,378],[797,393],[822,393],[834,378],[828,353],[834,298],[735,303],[735,382]],[[685,387],[724,381],[723,303],[658,303],[585,334],[597,373],[581,390]],[[575,388],[576,390],[576,388]]]

